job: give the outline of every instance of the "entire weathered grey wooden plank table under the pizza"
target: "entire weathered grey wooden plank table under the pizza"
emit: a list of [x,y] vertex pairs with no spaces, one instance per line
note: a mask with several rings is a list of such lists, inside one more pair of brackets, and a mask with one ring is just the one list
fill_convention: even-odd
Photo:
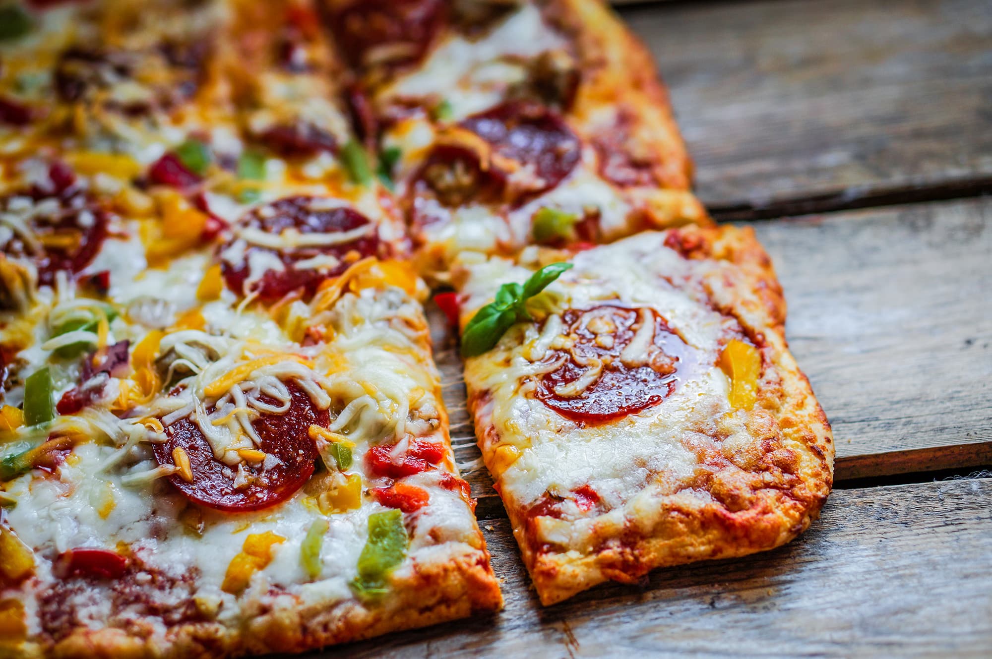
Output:
[[436,323],[506,609],[322,656],[992,656],[992,478],[929,473],[992,463],[992,1],[621,13],[669,83],[700,197],[775,259],[837,488],[777,551],[542,608]]

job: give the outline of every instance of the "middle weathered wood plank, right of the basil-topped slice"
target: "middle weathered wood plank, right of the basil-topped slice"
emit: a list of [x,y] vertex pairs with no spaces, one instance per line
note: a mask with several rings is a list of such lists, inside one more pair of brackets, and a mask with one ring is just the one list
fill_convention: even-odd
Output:
[[[992,200],[760,222],[788,335],[827,417],[838,480],[992,463]],[[477,461],[461,364],[439,314],[455,455],[502,515]]]

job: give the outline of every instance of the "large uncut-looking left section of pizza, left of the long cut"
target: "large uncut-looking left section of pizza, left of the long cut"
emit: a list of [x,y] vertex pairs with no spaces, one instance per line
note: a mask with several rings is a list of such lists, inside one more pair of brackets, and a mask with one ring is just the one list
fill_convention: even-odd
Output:
[[0,654],[300,651],[499,608],[306,1],[4,5]]

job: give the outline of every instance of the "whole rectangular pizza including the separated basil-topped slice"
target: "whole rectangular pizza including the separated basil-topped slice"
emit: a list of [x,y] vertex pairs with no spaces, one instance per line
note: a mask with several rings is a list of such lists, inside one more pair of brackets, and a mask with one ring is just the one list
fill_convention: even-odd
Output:
[[499,609],[428,284],[544,603],[816,517],[771,263],[597,0],[31,0],[0,62],[0,653]]

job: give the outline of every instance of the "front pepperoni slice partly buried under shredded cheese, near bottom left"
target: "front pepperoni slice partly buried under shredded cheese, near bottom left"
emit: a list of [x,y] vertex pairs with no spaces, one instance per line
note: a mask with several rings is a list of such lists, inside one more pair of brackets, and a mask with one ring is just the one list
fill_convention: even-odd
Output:
[[[268,508],[293,496],[310,478],[313,461],[318,457],[308,435],[310,425],[326,427],[330,415],[316,409],[297,384],[287,383],[287,388],[292,396],[290,409],[285,414],[263,414],[252,423],[262,440],[258,449],[278,458],[279,464],[263,470],[243,462],[252,479],[247,486],[235,489],[237,469],[215,459],[199,427],[189,419],[181,419],[166,427],[169,439],[154,446],[155,459],[160,464],[174,463],[176,447],[189,457],[192,481],[174,474],[170,482],[190,501],[229,512]],[[275,400],[267,402],[277,404]]]

